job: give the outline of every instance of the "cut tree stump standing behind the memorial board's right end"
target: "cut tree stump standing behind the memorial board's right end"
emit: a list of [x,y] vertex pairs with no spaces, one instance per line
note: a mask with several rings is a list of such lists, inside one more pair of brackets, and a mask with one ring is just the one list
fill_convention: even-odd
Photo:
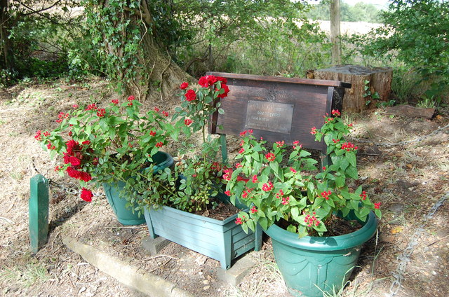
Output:
[[[351,83],[352,88],[344,93],[343,110],[360,112],[368,108],[367,103],[374,104],[377,101],[388,101],[393,71],[391,68],[339,65],[315,70],[313,76],[315,79]],[[366,81],[368,83],[365,83]],[[368,90],[365,87],[368,87]],[[373,98],[376,97],[374,95],[376,92],[379,99]]]

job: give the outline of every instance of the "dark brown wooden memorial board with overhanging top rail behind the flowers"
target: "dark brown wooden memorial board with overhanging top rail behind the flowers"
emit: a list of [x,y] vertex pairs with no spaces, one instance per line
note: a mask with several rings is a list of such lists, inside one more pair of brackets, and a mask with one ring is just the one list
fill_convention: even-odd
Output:
[[215,113],[210,120],[211,134],[239,135],[253,130],[255,137],[267,141],[298,140],[304,148],[325,151],[323,142],[315,141],[311,127],[323,125],[323,116],[332,109],[342,109],[344,88],[349,83],[307,78],[283,78],[209,72],[227,78],[229,94],[221,99],[225,113]]

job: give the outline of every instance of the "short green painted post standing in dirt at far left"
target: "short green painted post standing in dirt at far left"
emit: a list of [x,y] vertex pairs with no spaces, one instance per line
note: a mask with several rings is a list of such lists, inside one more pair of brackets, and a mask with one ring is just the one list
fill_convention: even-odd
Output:
[[47,242],[48,179],[37,174],[29,180],[29,240],[33,253]]

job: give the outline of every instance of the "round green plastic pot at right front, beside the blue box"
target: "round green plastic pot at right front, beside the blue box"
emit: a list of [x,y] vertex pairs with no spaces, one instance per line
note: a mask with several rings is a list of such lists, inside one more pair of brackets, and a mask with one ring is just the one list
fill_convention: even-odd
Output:
[[[371,212],[362,228],[347,235],[302,237],[272,225],[274,258],[293,296],[318,297],[345,284],[360,255],[361,244],[375,234],[377,219]],[[318,287],[317,287],[318,286]],[[321,290],[320,290],[321,289]]]

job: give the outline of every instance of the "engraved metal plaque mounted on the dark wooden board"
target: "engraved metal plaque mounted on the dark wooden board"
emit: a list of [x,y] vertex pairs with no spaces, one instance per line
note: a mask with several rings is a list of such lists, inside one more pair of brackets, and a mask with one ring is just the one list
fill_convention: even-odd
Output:
[[290,134],[293,104],[248,100],[246,128]]

